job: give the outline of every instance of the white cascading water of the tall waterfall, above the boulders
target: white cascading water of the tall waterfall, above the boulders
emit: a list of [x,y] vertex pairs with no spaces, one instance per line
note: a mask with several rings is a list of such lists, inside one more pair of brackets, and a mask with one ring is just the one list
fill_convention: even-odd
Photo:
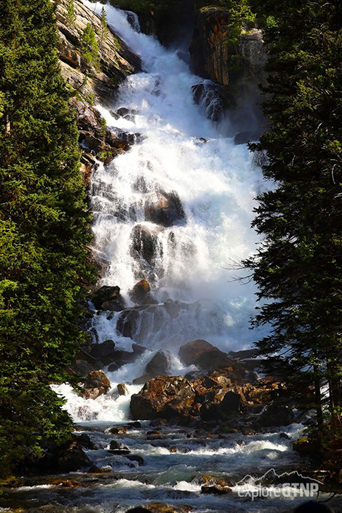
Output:
[[[127,13],[110,6],[106,12],[108,23],[141,57],[144,72],[125,80],[111,110],[98,106],[113,132],[139,134],[127,153],[100,165],[92,177],[95,251],[110,262],[101,284],[120,286],[132,305],[129,289],[147,279],[158,303],[183,303],[177,318],[161,307],[158,315],[141,317],[134,338],[151,350],[175,349],[194,338],[223,350],[251,346],[253,285],[234,281],[235,272],[227,268],[255,251],[251,220],[260,169],[246,146],[235,146],[220,135],[224,127],[205,118],[191,91],[201,79],[177,51],[134,30]],[[124,115],[112,115],[120,108]],[[175,219],[160,225],[151,219],[151,205],[170,197],[176,198]],[[153,254],[145,260],[132,242],[137,231],[138,243],[141,232],[153,239]],[[130,350],[132,340],[115,333],[118,315],[107,317],[94,317],[98,341],[113,338]]]

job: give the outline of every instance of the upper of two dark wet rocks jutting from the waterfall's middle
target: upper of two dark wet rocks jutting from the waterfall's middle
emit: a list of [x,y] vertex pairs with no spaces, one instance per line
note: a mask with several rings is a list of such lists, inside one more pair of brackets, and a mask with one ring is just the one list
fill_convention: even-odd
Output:
[[144,199],[146,221],[171,227],[182,222],[185,217],[182,203],[177,192],[159,192],[148,194]]

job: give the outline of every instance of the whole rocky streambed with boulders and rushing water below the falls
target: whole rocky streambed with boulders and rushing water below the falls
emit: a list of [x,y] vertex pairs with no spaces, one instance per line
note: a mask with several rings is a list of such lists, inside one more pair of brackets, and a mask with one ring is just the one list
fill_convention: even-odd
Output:
[[25,478],[4,490],[1,507],[285,513],[318,487],[328,497],[329,476],[308,457],[315,448],[296,443],[303,414],[293,410],[284,384],[251,370],[260,365],[251,350],[227,355],[199,340],[179,354],[206,372],[157,375],[141,388],[110,383],[99,370],[88,374],[83,393],[60,387],[70,413],[91,420],[76,424],[70,445],[46,448],[39,462],[27,464]]

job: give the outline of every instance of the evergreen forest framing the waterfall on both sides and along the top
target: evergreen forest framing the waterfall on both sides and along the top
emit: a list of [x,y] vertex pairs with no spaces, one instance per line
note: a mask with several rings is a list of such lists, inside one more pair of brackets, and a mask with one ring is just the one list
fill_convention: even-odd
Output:
[[[184,13],[175,3],[112,4],[145,16],[147,30],[164,42],[168,42],[163,32],[170,15],[174,13],[176,33],[179,13]],[[187,20],[208,7],[182,5]],[[262,28],[267,43],[270,77],[263,87],[270,130],[252,149],[265,178],[273,179],[276,186],[260,196],[256,210],[254,227],[265,236],[265,245],[244,265],[260,288],[260,300],[268,302],[254,322],[270,323],[273,329],[270,337],[258,342],[260,354],[272,357],[272,369],[282,373],[298,407],[315,412],[311,436],[319,442],[324,465],[336,471],[341,468],[342,448],[341,7],[338,2],[321,1],[305,1],[299,7],[285,1],[279,6],[267,0],[250,4],[227,0],[210,7],[232,15],[227,44],[239,44],[241,31],[255,27]],[[70,66],[68,53],[64,58],[87,79],[80,78],[88,92],[75,95],[77,87],[71,83],[75,77],[68,75],[68,80],[64,72],[72,89],[65,88],[61,77],[53,5],[37,0],[32,9],[11,0],[0,8],[6,20],[0,28],[4,136],[0,141],[0,469],[4,477],[27,455],[42,454],[48,441],[63,444],[71,439],[72,422],[49,383],[70,381],[65,368],[84,342],[77,328],[80,305],[94,284],[96,270],[88,250],[90,215],[79,172],[79,134],[68,103],[72,98],[79,114],[84,106],[94,113],[94,90],[104,91],[109,84],[108,89],[115,91],[132,72],[127,67],[122,71],[117,63],[113,70],[119,71],[111,77],[103,70],[102,49],[96,49],[91,25],[86,25],[74,59],[77,64]],[[72,23],[71,12],[65,30],[69,37]],[[89,84],[94,89],[87,89]],[[95,125],[95,132],[94,127],[86,127],[84,137],[94,142],[103,160],[108,153],[112,158],[115,144],[109,141],[101,117]],[[87,158],[91,156],[82,156]],[[83,164],[89,167],[84,160]]]

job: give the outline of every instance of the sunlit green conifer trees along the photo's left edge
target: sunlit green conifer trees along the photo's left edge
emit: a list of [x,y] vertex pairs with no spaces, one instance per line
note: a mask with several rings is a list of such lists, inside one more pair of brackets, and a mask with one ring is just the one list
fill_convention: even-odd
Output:
[[71,422],[49,382],[77,351],[93,270],[53,4],[0,3],[0,469]]

